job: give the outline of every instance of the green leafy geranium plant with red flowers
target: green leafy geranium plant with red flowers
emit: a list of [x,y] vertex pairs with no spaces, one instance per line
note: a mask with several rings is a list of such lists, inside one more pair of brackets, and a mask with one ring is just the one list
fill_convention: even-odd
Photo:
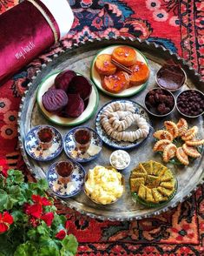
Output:
[[75,255],[76,237],[56,213],[47,182],[24,182],[22,172],[0,172],[0,256]]

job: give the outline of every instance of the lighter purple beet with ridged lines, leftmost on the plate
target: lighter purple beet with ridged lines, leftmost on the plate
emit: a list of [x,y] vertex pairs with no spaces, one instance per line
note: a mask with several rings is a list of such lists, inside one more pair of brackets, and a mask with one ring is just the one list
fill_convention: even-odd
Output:
[[61,89],[51,89],[43,94],[42,102],[46,111],[56,112],[62,110],[68,104],[68,96]]

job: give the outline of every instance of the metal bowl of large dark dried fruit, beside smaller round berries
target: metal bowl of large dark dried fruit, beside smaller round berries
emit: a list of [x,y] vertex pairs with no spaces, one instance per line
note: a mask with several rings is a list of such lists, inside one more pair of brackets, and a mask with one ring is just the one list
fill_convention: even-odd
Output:
[[175,107],[175,98],[171,91],[154,88],[145,96],[147,111],[155,117],[166,117]]

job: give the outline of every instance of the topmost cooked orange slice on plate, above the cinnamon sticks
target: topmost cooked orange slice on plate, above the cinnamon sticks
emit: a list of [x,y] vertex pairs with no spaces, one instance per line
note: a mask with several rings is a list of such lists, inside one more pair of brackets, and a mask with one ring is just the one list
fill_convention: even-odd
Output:
[[119,46],[113,51],[112,58],[120,64],[129,67],[136,62],[136,51],[128,46]]

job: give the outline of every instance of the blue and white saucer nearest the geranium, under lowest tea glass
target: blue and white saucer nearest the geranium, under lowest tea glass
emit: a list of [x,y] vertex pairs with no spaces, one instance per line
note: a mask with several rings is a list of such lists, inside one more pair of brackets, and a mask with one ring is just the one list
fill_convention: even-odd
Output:
[[61,183],[58,180],[57,174],[55,172],[57,162],[51,165],[47,172],[49,188],[57,197],[63,199],[76,196],[77,193],[82,191],[82,186],[84,183],[85,170],[83,169],[82,165],[79,165],[75,161],[70,161],[74,165],[74,172],[71,174],[68,184]]

